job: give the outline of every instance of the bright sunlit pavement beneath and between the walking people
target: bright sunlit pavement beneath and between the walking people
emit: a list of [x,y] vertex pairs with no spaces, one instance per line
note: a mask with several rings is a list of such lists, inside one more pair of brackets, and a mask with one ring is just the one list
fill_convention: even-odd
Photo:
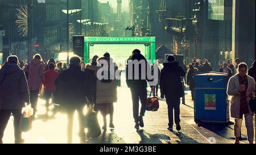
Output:
[[[186,105],[181,105],[181,131],[167,130],[167,104],[160,100],[157,112],[146,112],[144,128],[138,131],[134,128],[133,108],[130,90],[126,87],[118,88],[118,102],[114,103],[115,129],[102,131],[96,139],[86,138],[86,143],[129,143],[129,144],[195,144],[195,143],[234,143],[233,125],[204,125],[199,127],[193,121],[193,102],[190,91],[185,91]],[[159,93],[160,94],[160,93]],[[44,118],[44,101],[39,100],[38,119],[33,122],[29,132],[23,132],[25,143],[67,143],[67,116],[57,114],[55,119]],[[86,110],[85,110],[86,112]],[[98,120],[102,126],[100,114]],[[230,119],[233,122],[233,119]],[[254,118],[255,128],[255,118]],[[254,129],[255,130],[255,129]],[[86,131],[86,130],[85,130]],[[79,143],[78,122],[75,115],[73,125],[73,143]],[[242,143],[247,143],[246,128],[243,122]],[[14,143],[13,118],[9,120],[3,143]]]

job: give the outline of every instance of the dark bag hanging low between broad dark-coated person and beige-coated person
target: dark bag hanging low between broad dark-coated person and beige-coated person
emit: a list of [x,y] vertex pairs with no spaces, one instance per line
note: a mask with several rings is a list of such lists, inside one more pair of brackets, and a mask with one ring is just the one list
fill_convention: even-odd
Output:
[[94,111],[94,104],[89,104],[84,118],[84,127],[88,128],[87,137],[96,138],[101,135],[101,127],[98,123],[98,112]]

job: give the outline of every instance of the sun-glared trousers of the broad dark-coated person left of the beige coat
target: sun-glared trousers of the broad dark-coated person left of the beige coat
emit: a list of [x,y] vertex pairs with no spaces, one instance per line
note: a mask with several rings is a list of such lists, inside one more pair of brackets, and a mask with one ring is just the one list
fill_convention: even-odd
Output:
[[78,120],[79,120],[79,136],[80,139],[84,139],[85,137],[85,132],[84,132],[84,106],[76,106],[72,110],[68,110],[68,143],[72,143],[72,135],[73,135],[73,118],[75,111],[77,111],[78,114]]

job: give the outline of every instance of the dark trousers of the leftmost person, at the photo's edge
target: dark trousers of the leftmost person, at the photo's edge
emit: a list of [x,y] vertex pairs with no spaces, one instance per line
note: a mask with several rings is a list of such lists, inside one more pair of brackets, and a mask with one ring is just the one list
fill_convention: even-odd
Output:
[[11,114],[14,116],[14,137],[15,141],[19,141],[22,136],[22,132],[19,131],[19,121],[22,116],[21,109],[15,110],[0,110],[0,144],[3,143],[3,133],[5,132],[5,128],[8,124]]

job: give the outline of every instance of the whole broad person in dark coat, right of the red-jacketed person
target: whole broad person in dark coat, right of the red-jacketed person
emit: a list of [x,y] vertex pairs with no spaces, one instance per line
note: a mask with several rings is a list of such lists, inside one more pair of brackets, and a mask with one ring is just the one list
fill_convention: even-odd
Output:
[[[73,135],[73,117],[75,111],[79,119],[79,137],[80,143],[85,143],[85,132],[83,127],[84,106],[88,95],[88,79],[80,66],[79,56],[73,56],[70,59],[69,68],[64,70],[55,80],[56,89],[61,88],[61,107],[67,112],[68,116],[68,143],[72,143]],[[59,98],[59,97],[58,97]]]

